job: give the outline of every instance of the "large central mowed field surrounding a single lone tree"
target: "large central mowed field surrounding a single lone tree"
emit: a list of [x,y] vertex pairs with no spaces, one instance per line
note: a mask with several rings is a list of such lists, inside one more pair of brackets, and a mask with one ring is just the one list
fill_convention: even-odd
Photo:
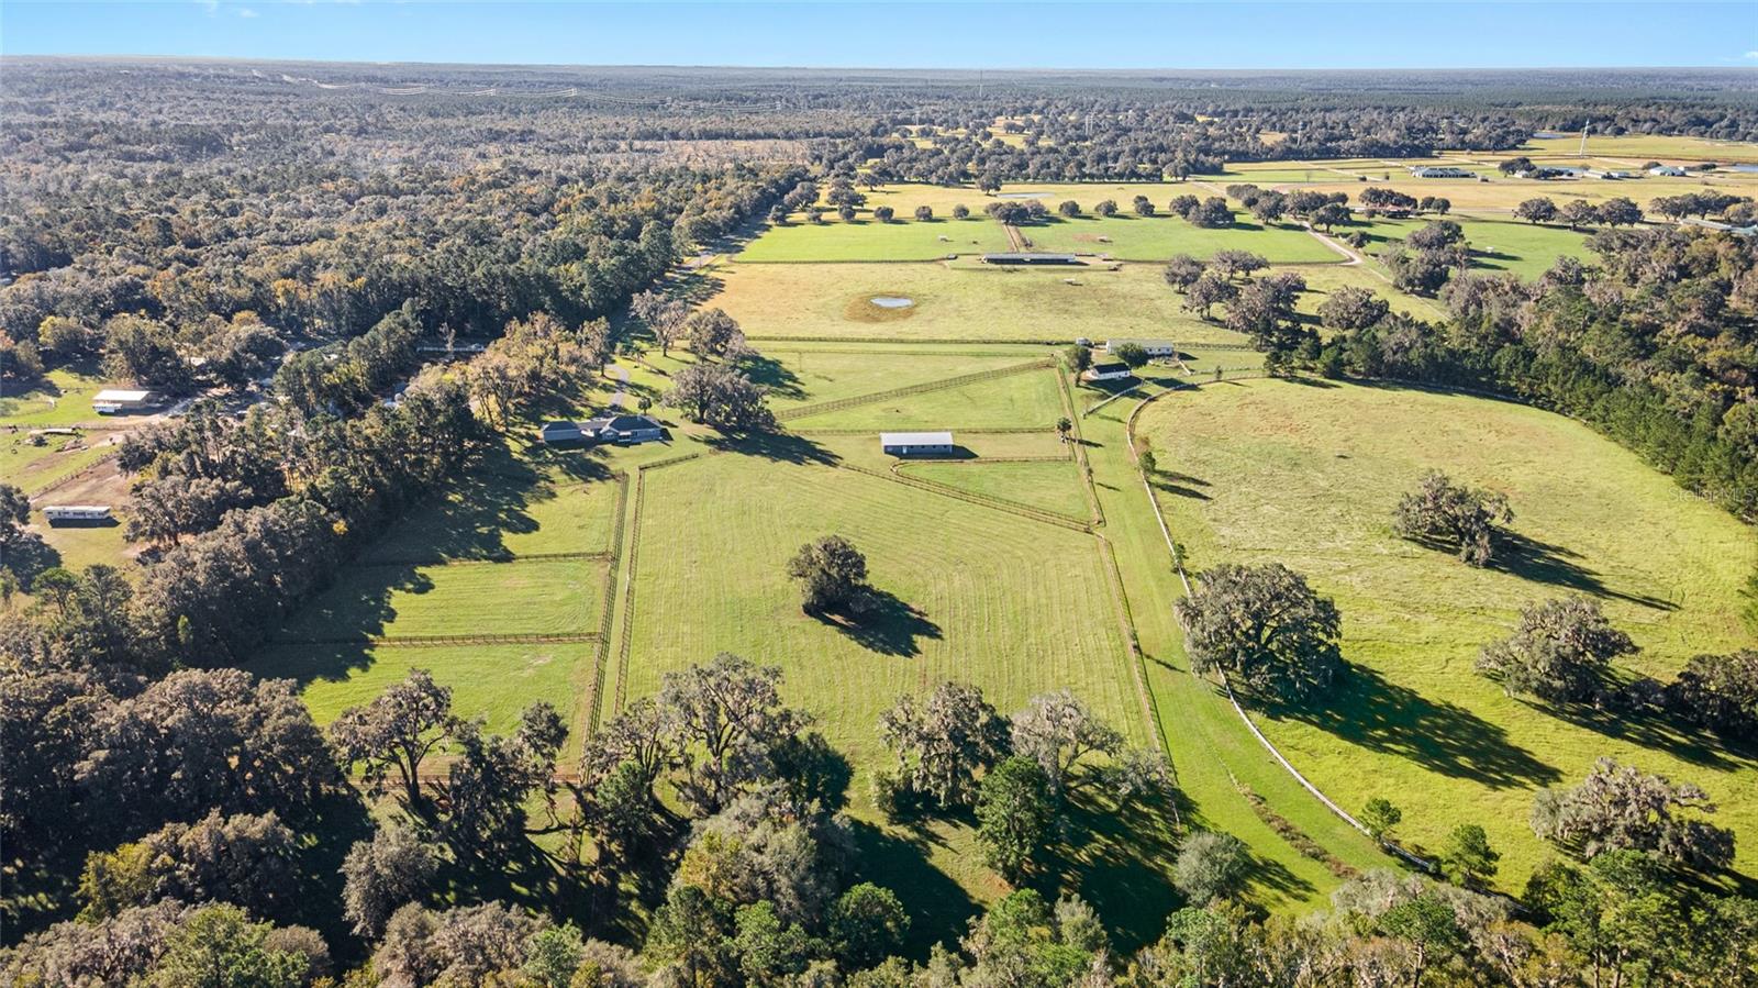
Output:
[[[781,665],[788,698],[863,768],[883,761],[879,712],[944,679],[1002,710],[1067,686],[1146,740],[1092,536],[795,459],[807,462],[726,454],[645,475],[628,696],[731,650]],[[888,594],[865,626],[803,614],[786,577],[826,533],[861,547]]]

